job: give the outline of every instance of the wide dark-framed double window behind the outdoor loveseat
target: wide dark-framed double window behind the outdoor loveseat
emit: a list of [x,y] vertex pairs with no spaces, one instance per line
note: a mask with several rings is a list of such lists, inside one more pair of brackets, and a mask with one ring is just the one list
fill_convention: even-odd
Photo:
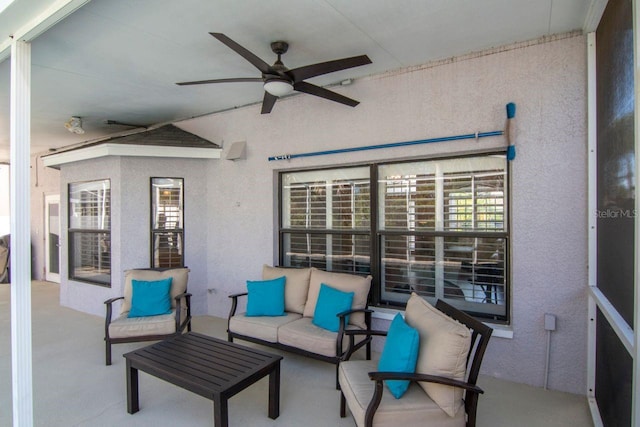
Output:
[[286,172],[280,262],[372,274],[376,305],[507,320],[507,189],[502,153]]

